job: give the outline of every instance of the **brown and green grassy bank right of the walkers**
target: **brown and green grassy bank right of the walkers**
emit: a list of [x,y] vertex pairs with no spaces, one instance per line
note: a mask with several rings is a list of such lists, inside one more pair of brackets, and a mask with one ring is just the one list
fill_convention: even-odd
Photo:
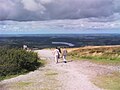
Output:
[[83,47],[69,53],[72,59],[88,59],[104,64],[120,64],[120,46]]

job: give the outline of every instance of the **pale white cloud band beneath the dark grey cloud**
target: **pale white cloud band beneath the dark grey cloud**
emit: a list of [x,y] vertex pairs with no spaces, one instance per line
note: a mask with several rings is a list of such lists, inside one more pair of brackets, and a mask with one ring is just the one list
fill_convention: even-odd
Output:
[[60,30],[60,31],[75,31],[81,30],[109,30],[120,29],[120,22],[91,22],[89,19],[78,20],[51,20],[51,21],[32,21],[32,22],[17,22],[17,21],[1,21],[0,32],[4,31],[45,31],[45,30]]

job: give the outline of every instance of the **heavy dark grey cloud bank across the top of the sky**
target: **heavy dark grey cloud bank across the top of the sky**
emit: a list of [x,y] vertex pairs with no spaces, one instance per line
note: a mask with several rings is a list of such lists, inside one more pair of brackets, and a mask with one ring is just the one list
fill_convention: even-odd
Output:
[[0,20],[107,18],[109,21],[119,15],[120,0],[0,0]]

